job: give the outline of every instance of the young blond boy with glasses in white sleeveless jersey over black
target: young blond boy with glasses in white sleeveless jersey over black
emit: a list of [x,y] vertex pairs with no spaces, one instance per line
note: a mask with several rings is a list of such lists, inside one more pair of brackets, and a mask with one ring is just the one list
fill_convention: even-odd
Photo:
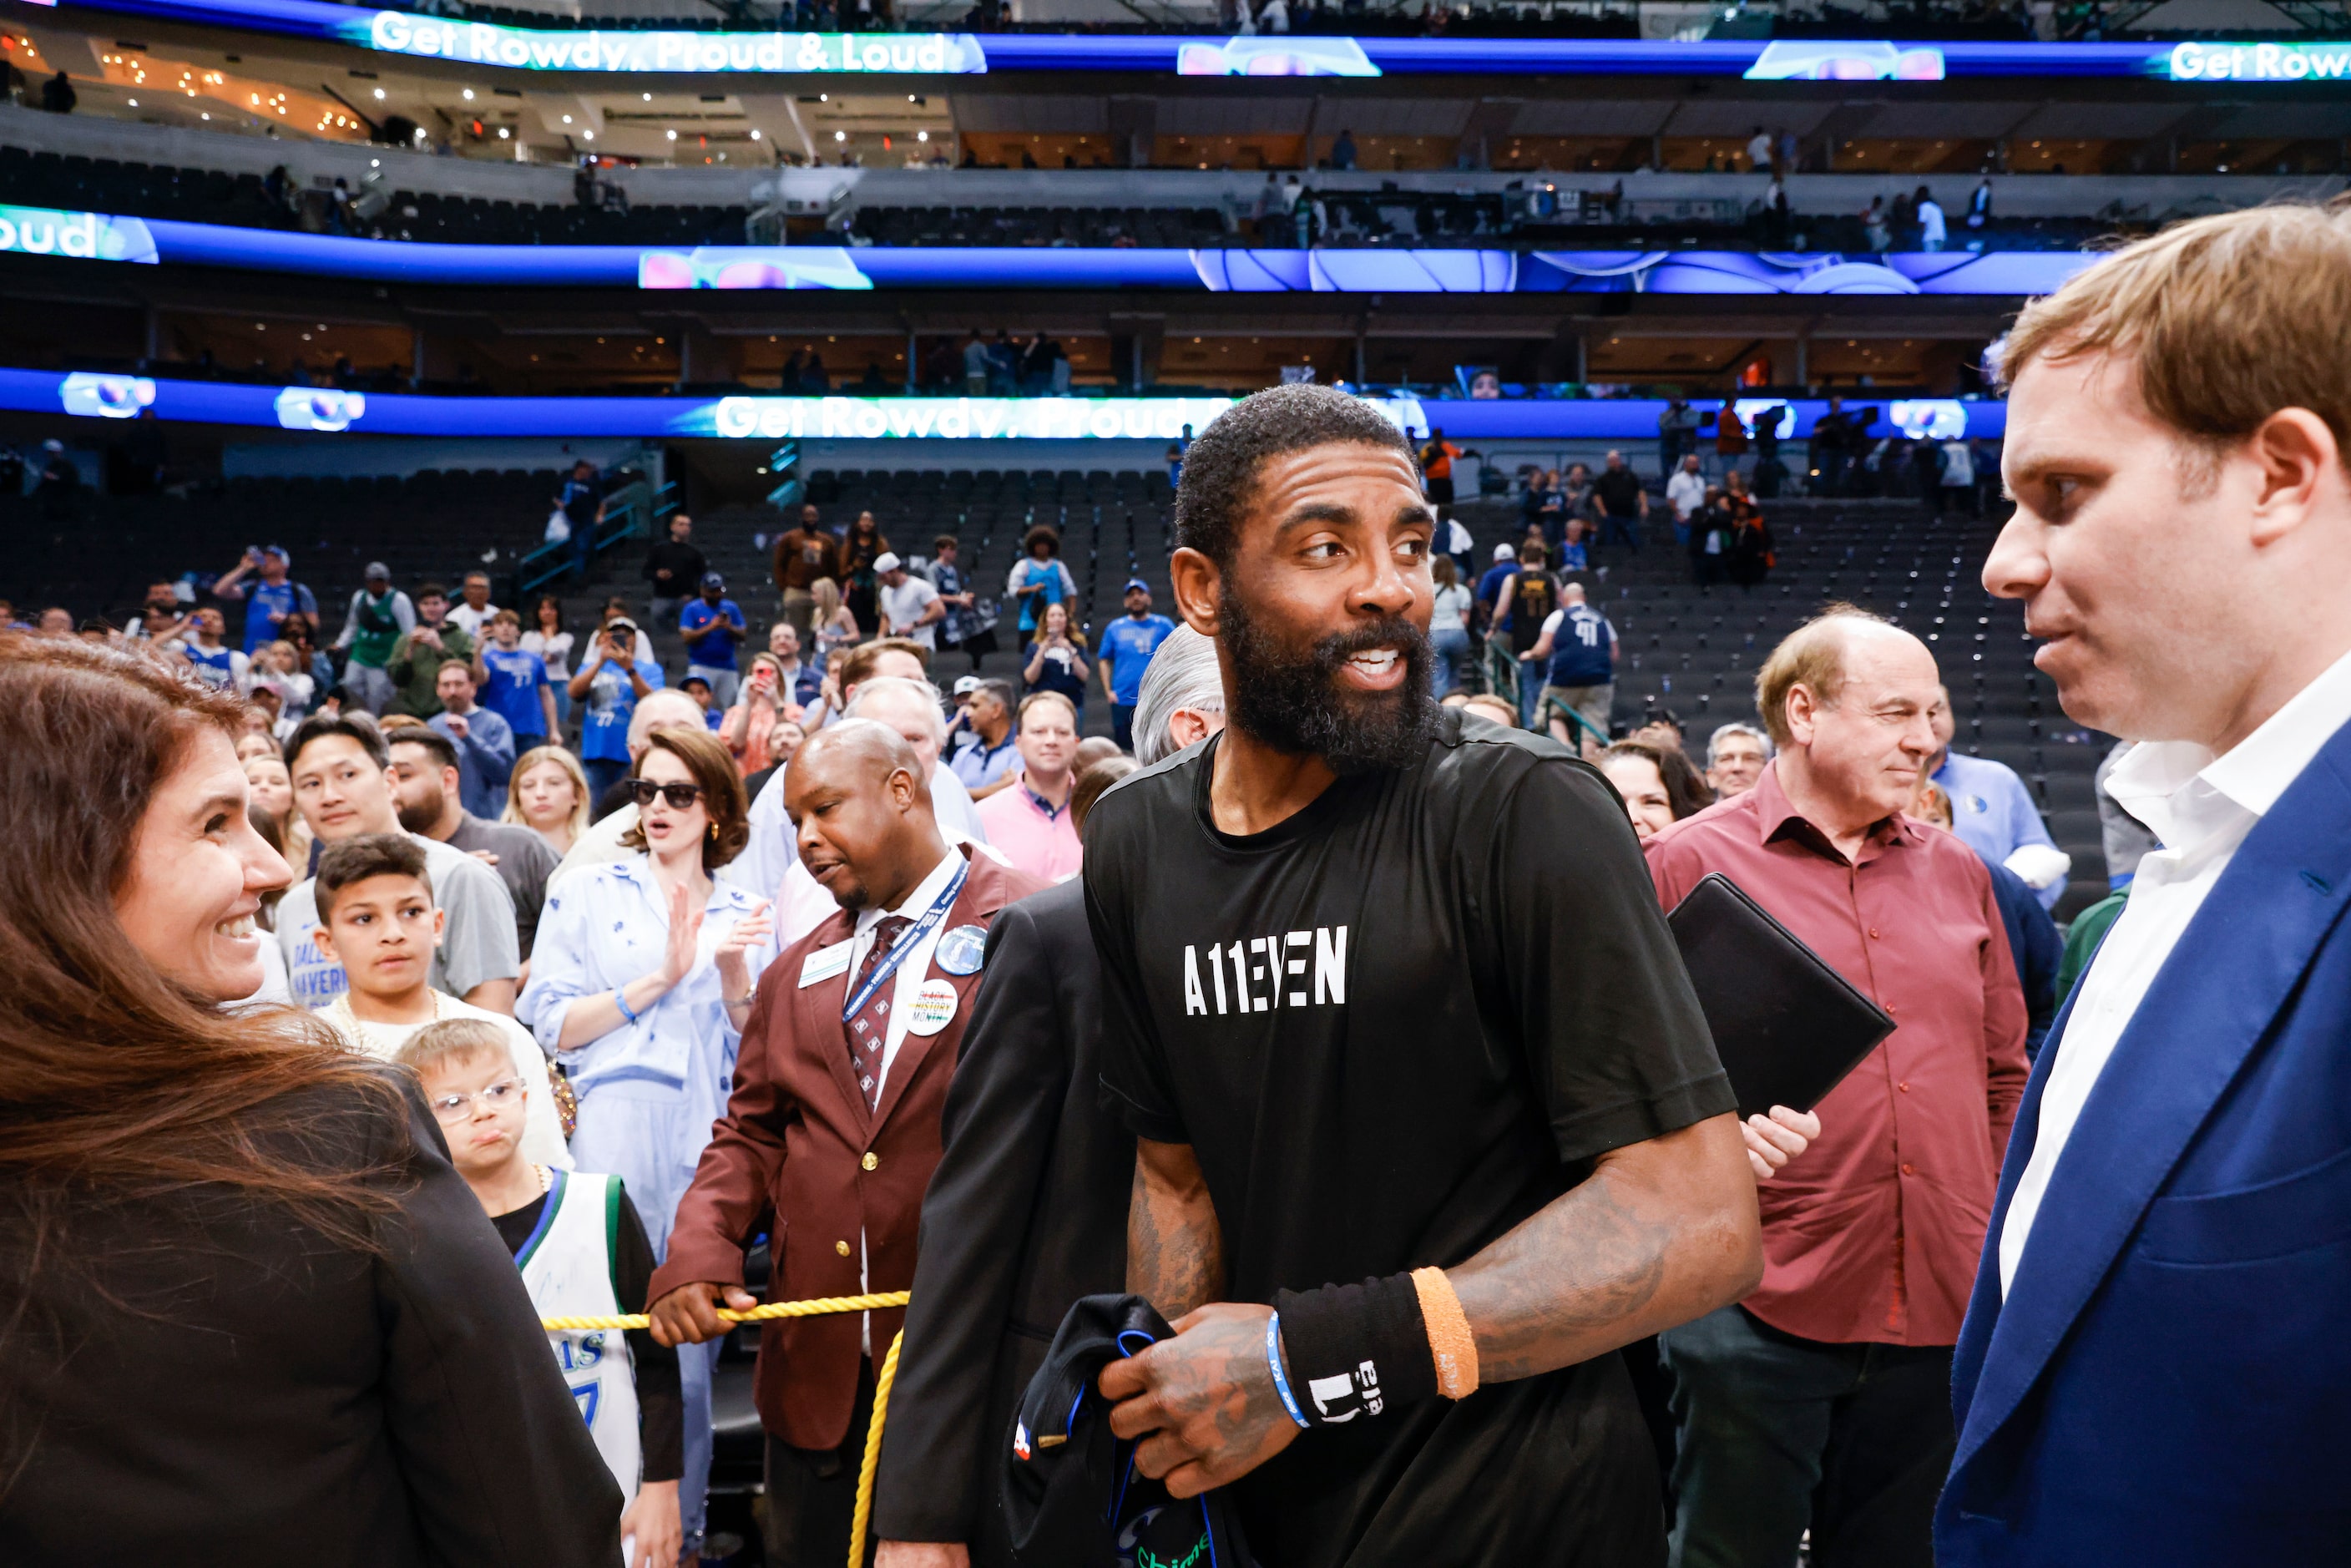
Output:
[[[482,1201],[515,1255],[543,1316],[614,1316],[644,1309],[654,1248],[618,1175],[557,1171],[522,1150],[531,1086],[515,1072],[494,1023],[426,1025],[393,1056],[416,1072],[449,1140],[449,1164]],[[677,1352],[644,1331],[550,1331],[555,1363],[581,1406],[597,1453],[628,1507],[625,1568],[675,1568],[684,1547],[677,1476],[684,1472],[684,1406]]]

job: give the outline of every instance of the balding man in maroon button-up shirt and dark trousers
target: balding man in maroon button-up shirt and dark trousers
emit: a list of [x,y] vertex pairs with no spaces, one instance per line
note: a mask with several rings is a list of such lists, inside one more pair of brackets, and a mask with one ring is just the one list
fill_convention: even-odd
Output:
[[1902,816],[1935,755],[1935,656],[1836,607],[1756,675],[1780,755],[1754,790],[1648,839],[1657,900],[1723,872],[1895,1032],[1759,1182],[1763,1284],[1660,1335],[1674,1373],[1674,1568],[1933,1563],[1951,1345],[2008,1124],[2024,992],[1984,863]]

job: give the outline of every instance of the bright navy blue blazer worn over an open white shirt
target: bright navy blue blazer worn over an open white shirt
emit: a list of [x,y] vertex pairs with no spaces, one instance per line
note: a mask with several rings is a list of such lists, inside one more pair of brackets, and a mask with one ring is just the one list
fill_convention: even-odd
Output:
[[[2351,726],[2139,1001],[2001,1291],[2041,1051],[1951,1356],[1947,1568],[2351,1561]],[[2078,997],[2078,990],[2076,990]]]

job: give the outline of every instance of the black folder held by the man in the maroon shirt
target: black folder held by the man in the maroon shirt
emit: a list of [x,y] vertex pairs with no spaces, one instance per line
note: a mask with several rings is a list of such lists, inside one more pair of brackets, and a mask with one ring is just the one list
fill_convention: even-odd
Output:
[[1742,1117],[1813,1110],[1895,1032],[1876,1001],[1721,872],[1702,877],[1665,924]]

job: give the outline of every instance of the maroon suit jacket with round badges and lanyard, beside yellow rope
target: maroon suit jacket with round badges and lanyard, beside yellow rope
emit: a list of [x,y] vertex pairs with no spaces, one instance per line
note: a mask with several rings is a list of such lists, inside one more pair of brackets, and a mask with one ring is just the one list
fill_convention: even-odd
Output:
[[[971,856],[971,877],[947,910],[950,931],[987,926],[1006,903],[1044,886],[987,853],[973,853],[969,844],[964,853]],[[813,985],[799,983],[811,952],[849,940],[853,931],[856,922],[837,912],[759,978],[743,1025],[734,1098],[677,1204],[670,1255],[654,1272],[651,1300],[698,1279],[743,1284],[743,1248],[762,1229],[769,1232],[771,1260],[766,1300],[905,1291],[915,1284],[922,1187],[938,1164],[938,1117],[980,976],[950,976],[931,964],[929,976],[955,985],[962,1001],[938,1034],[907,1032],[882,1084],[882,1105],[868,1112],[842,1034],[851,973],[842,969]],[[900,1321],[900,1312],[872,1314],[877,1363]],[[858,1331],[853,1312],[759,1328],[752,1399],[773,1436],[792,1448],[839,1446],[858,1389]]]

